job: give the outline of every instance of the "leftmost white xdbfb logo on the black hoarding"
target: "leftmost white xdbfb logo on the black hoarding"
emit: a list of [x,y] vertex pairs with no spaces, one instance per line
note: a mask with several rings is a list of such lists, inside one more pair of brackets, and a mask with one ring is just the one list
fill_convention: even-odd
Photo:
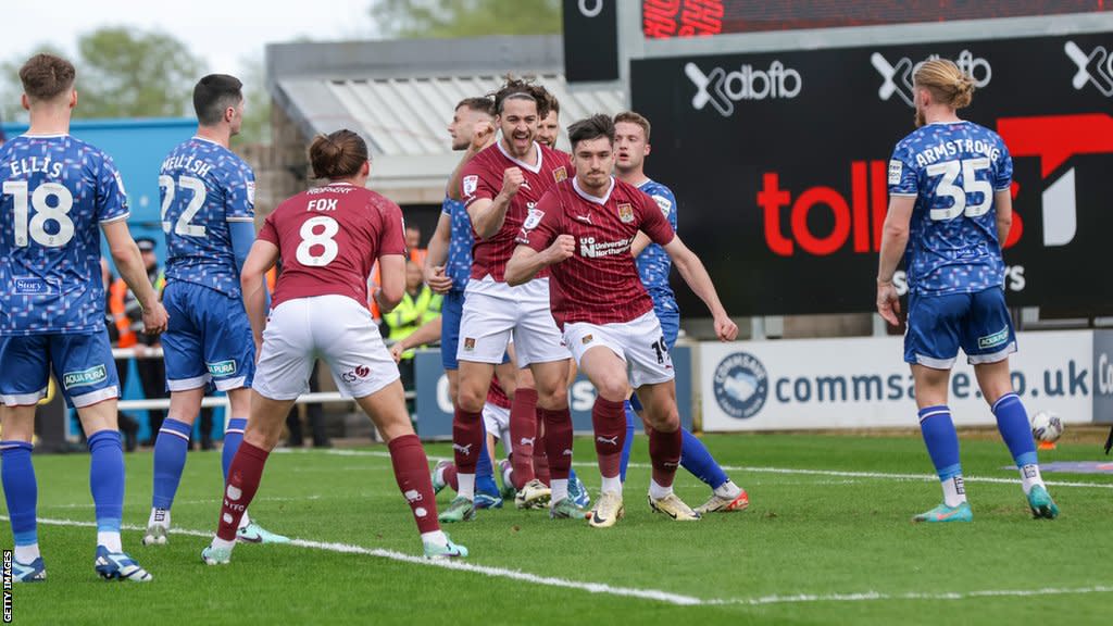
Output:
[[716,67],[709,72],[705,72],[695,62],[688,62],[684,65],[684,75],[696,86],[692,107],[702,110],[710,104],[722,117],[733,115],[735,102],[790,99],[799,96],[804,89],[800,72],[786,68],[778,60],[769,63],[769,69],[755,69],[749,63],[742,63],[738,69],[728,71]]

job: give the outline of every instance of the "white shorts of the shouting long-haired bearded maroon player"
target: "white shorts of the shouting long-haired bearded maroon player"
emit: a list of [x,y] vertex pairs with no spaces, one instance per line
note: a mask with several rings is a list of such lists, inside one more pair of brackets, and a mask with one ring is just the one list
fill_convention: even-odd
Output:
[[459,361],[502,363],[512,341],[519,368],[571,356],[550,310],[549,278],[534,278],[516,287],[490,276],[473,278],[464,293]]

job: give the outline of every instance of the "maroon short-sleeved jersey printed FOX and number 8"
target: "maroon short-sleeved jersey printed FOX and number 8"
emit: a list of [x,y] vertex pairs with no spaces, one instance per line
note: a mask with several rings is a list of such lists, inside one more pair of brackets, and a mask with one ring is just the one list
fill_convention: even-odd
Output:
[[404,229],[398,205],[347,183],[302,192],[283,202],[259,231],[259,239],[278,246],[282,258],[272,305],[298,297],[346,295],[366,306],[367,276],[375,260],[406,254]]

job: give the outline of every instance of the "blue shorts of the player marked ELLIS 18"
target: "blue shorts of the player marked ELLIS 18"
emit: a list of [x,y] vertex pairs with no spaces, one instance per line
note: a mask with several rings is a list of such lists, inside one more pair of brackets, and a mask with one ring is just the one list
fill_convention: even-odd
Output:
[[0,338],[0,401],[35,404],[47,397],[50,370],[68,407],[120,397],[108,331]]

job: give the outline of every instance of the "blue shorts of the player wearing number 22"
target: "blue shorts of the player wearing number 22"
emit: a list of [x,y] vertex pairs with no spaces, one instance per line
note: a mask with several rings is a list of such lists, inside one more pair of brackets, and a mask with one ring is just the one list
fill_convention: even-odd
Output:
[[187,391],[210,381],[220,391],[252,387],[255,340],[244,301],[174,282],[162,292],[162,305],[170,316],[161,340],[167,389]]

